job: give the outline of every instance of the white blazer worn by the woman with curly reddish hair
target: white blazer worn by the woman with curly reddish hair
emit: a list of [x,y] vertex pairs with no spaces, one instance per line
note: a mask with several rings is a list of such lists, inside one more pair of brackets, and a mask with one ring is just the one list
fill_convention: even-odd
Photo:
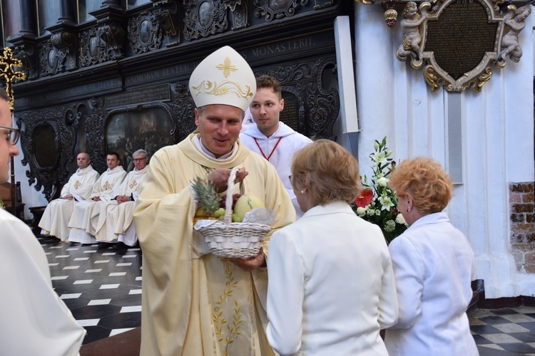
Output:
[[474,253],[446,213],[424,216],[389,245],[399,320],[388,329],[389,355],[479,355],[470,333]]

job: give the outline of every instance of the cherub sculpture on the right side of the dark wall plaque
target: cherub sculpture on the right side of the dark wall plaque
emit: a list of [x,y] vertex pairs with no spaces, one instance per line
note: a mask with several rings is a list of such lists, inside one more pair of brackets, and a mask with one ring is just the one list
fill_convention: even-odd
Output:
[[498,65],[505,66],[505,56],[511,61],[518,63],[522,56],[522,48],[519,45],[519,33],[526,27],[524,20],[531,14],[529,5],[519,7],[507,6],[507,14],[504,16],[504,35],[501,37],[501,51],[498,56]]

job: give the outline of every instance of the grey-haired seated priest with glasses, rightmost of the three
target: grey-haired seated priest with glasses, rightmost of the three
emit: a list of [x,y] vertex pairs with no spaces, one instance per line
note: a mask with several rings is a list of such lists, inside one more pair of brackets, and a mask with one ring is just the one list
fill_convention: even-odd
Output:
[[101,204],[95,237],[103,243],[117,243],[113,248],[136,246],[138,236],[132,224],[139,187],[148,171],[148,157],[145,150],[133,152],[134,169],[119,186],[113,189],[113,199]]

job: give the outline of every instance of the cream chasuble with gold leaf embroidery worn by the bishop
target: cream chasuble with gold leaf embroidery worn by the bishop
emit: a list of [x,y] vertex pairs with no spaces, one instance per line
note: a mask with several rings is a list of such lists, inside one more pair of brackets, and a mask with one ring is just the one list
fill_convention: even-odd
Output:
[[295,221],[295,210],[265,159],[239,142],[228,161],[209,159],[194,147],[194,135],[152,157],[134,211],[143,248],[141,355],[274,355],[265,337],[267,271],[245,272],[199,252],[205,246],[194,241],[202,238],[193,234],[189,184],[205,168],[245,167],[245,192],[277,212],[275,230]]

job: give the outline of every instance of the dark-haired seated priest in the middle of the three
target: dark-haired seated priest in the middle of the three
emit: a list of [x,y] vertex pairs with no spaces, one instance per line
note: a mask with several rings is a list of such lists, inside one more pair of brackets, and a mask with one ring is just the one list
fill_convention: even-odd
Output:
[[79,242],[80,244],[94,244],[96,239],[95,229],[98,220],[98,213],[101,211],[101,205],[106,204],[113,198],[111,192],[113,188],[123,182],[126,177],[126,171],[121,166],[121,160],[116,152],[108,153],[106,164],[108,169],[104,172],[98,181],[93,185],[91,197],[86,201],[76,204],[68,221],[68,227],[71,231],[68,234],[69,242]]

